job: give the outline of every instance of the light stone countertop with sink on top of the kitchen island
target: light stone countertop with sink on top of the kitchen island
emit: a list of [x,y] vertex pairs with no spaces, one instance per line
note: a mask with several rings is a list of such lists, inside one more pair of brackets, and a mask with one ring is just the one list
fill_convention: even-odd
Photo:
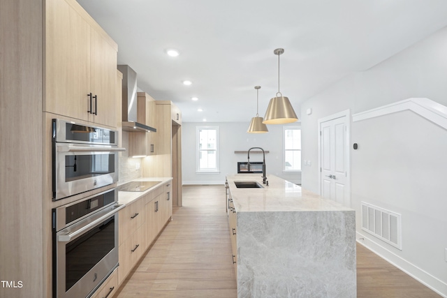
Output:
[[[274,175],[267,175],[269,186],[263,184],[261,174],[227,174],[226,178],[237,212],[353,211]],[[235,181],[257,181],[264,188],[237,188]]]

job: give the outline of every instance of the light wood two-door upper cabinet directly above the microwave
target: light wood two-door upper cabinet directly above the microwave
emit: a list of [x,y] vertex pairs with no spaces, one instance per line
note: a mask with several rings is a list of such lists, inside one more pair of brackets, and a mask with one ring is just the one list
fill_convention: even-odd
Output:
[[117,44],[75,0],[47,0],[44,111],[117,126]]

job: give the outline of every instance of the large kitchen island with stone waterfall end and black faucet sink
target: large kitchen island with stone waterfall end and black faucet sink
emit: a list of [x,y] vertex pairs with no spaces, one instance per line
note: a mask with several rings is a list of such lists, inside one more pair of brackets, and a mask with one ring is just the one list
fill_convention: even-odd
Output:
[[355,211],[267,177],[226,176],[237,297],[356,297]]

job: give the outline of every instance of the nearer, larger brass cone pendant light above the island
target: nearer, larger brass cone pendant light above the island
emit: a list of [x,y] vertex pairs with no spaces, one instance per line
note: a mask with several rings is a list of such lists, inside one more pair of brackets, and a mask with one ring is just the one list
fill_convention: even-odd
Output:
[[279,92],[279,55],[284,53],[284,49],[276,49],[273,53],[278,55],[278,92],[276,97],[270,99],[263,124],[292,123],[298,121],[298,117],[288,98],[282,96],[281,92]]

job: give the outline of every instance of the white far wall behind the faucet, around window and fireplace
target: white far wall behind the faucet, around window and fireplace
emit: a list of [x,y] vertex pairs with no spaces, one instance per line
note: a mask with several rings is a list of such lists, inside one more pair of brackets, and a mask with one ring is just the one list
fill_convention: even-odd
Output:
[[[299,123],[294,124],[299,126]],[[196,173],[196,126],[219,126],[220,172],[218,174]],[[288,125],[293,126],[293,124]],[[237,162],[247,161],[247,151],[251,147],[261,147],[265,154],[267,174],[274,174],[294,183],[301,182],[300,173],[282,172],[283,126],[268,126],[268,133],[247,133],[249,122],[199,122],[182,124],[182,179],[183,184],[223,184],[226,174],[237,173]],[[262,154],[250,154],[250,161],[263,161]]]

